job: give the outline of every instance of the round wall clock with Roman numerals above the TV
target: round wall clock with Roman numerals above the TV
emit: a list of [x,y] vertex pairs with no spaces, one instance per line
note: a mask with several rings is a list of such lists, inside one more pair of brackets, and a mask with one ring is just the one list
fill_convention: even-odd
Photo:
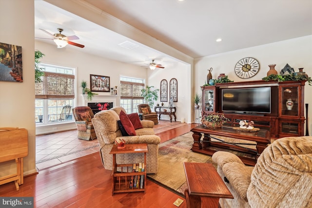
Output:
[[235,74],[240,78],[250,78],[257,74],[260,65],[257,59],[252,57],[242,58],[235,65]]

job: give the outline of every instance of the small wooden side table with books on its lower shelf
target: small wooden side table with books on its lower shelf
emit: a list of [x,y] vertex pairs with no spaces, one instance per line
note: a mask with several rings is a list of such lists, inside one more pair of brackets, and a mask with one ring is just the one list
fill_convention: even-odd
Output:
[[[142,172],[117,172],[117,167],[127,167],[127,170],[129,167],[133,167],[133,164],[117,164],[116,162],[116,154],[121,153],[144,153],[144,171]],[[135,191],[144,191],[146,187],[146,152],[147,150],[147,144],[126,144],[124,149],[118,149],[117,145],[114,145],[112,150],[110,151],[110,154],[113,154],[113,170],[112,170],[112,195],[114,193],[122,193],[122,192],[135,192]],[[137,164],[138,165],[138,164]],[[135,188],[132,186],[130,188],[130,181],[132,180],[132,176],[141,177],[141,175],[144,176],[144,185],[143,189]]]

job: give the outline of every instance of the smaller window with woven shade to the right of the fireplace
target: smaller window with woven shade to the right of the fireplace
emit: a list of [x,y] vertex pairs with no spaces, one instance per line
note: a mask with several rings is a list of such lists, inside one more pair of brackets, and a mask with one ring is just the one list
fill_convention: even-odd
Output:
[[141,90],[144,88],[144,79],[120,77],[120,106],[127,113],[137,113],[137,105],[144,102]]

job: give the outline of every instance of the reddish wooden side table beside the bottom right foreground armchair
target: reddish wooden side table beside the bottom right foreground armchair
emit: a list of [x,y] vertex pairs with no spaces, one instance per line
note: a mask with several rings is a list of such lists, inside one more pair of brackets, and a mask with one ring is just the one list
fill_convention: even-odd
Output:
[[212,164],[185,162],[183,166],[187,208],[217,208],[219,198],[234,198]]

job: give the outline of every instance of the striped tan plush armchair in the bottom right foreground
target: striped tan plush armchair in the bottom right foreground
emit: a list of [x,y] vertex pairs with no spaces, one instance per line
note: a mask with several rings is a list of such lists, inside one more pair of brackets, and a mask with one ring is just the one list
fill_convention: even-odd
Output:
[[212,160],[234,196],[220,198],[221,208],[312,207],[312,136],[275,140],[254,167],[226,151],[215,152]]

